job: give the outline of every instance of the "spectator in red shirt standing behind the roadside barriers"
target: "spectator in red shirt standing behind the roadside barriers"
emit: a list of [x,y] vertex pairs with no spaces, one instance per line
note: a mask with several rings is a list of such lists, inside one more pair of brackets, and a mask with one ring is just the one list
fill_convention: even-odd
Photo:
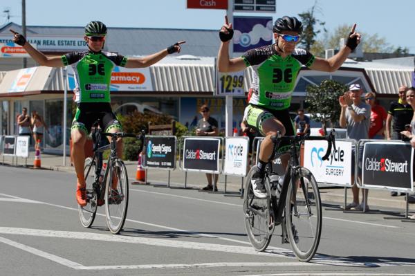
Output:
[[369,139],[385,139],[386,110],[378,104],[374,92],[366,93],[365,102],[371,107]]

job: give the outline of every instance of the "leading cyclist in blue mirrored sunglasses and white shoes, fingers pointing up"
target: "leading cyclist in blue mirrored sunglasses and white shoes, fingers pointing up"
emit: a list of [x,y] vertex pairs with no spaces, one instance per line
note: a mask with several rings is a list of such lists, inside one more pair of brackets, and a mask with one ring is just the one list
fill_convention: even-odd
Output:
[[[352,50],[360,43],[360,34],[355,32],[356,24],[351,28],[346,45],[339,53],[329,59],[315,57],[307,50],[295,48],[302,33],[302,23],[296,17],[284,16],[275,21],[273,35],[275,44],[262,46],[243,53],[241,57],[229,57],[229,44],[233,36],[232,24],[225,17],[225,24],[219,31],[221,46],[218,54],[220,72],[242,71],[251,66],[253,69],[253,93],[247,107],[248,126],[256,129],[262,136],[257,161],[257,172],[252,176],[252,189],[255,196],[266,198],[263,178],[265,165],[273,151],[271,136],[293,136],[293,122],[288,113],[291,105],[295,80],[302,65],[312,70],[333,72],[347,59]],[[280,145],[282,153],[289,145]],[[284,167],[288,165],[288,154],[281,156]]]

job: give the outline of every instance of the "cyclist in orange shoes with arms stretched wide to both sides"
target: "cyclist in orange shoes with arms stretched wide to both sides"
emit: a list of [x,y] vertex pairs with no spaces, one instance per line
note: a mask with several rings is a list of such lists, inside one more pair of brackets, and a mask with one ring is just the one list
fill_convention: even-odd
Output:
[[[117,53],[102,51],[107,35],[107,26],[100,21],[91,21],[85,27],[84,39],[88,50],[67,53],[62,56],[46,57],[26,42],[26,38],[13,30],[13,42],[23,46],[28,54],[42,66],[62,67],[71,65],[75,72],[75,102],[77,111],[71,127],[73,142],[72,156],[77,176],[76,199],[81,206],[86,205],[84,176],[84,144],[93,122],[100,120],[105,132],[122,131],[122,126],[111,110],[110,82],[114,66],[144,68],[155,64],[169,54],[180,53],[181,44],[177,42],[158,53],[146,57],[124,57]],[[122,156],[122,140],[117,141],[117,154]]]

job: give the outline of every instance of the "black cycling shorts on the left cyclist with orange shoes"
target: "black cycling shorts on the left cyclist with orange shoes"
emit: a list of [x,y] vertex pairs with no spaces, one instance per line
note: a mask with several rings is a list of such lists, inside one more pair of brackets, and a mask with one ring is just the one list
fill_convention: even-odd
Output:
[[111,105],[107,102],[81,102],[78,104],[71,129],[80,129],[89,134],[93,123],[97,120],[99,120],[99,126],[101,129],[104,129],[104,132],[109,132],[113,128],[122,131],[120,121],[118,121],[116,114],[111,109]]

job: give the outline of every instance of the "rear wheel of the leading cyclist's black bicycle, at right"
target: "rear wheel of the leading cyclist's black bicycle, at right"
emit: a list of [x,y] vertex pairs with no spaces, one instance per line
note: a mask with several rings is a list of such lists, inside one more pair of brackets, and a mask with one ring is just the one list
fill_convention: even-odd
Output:
[[[264,251],[271,241],[274,232],[274,216],[270,203],[270,194],[266,199],[257,199],[252,190],[251,178],[257,166],[250,169],[246,176],[243,193],[243,214],[248,239],[257,251]],[[269,185],[268,185],[269,191]]]

